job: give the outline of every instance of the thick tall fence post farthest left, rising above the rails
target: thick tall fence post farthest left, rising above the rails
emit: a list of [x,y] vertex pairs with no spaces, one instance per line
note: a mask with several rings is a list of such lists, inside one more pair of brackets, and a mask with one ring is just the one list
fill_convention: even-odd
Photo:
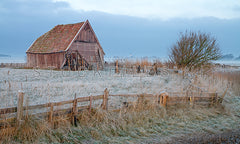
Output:
[[21,124],[22,116],[23,116],[23,99],[24,92],[18,91],[18,105],[17,105],[17,124]]

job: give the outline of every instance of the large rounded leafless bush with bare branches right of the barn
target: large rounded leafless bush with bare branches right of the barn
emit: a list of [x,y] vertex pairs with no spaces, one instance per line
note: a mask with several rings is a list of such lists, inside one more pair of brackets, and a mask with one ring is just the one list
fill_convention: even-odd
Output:
[[221,52],[214,37],[206,33],[187,31],[181,33],[169,54],[170,61],[178,68],[188,68],[190,71],[220,57]]

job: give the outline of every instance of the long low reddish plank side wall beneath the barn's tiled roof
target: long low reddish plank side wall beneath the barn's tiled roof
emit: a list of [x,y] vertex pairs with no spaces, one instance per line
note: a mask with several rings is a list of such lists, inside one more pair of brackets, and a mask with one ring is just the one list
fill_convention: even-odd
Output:
[[49,68],[55,67],[60,69],[64,61],[64,52],[62,53],[50,53],[50,54],[32,54],[27,53],[27,66],[38,67],[38,68]]

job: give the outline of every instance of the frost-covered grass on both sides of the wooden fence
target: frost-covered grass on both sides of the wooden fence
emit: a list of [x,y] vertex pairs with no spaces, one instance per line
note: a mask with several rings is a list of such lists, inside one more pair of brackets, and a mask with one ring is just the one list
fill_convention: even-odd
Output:
[[[228,79],[216,75],[189,76],[192,84],[220,94]],[[112,94],[160,93],[184,91],[189,79],[179,74],[114,74],[114,71],[68,72],[50,70],[0,69],[0,105],[16,106],[17,92],[25,92],[28,104],[65,101],[77,97],[103,94],[105,88]],[[121,99],[111,99],[113,101]],[[110,104],[110,105],[111,105]],[[240,97],[232,87],[223,104],[216,107],[178,106],[164,109],[152,103],[108,113],[93,109],[78,115],[78,126],[60,120],[56,129],[45,122],[27,118],[21,129],[5,133],[4,142],[35,143],[166,143],[175,138],[201,133],[215,134],[240,129]],[[40,129],[41,128],[41,129]],[[1,131],[2,132],[2,131]],[[10,135],[8,135],[10,133]],[[0,141],[1,142],[1,141]]]

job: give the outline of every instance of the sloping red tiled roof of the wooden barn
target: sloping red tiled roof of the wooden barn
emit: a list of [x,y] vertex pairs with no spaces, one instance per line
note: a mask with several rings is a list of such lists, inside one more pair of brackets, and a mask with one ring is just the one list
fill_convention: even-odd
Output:
[[54,53],[65,51],[84,22],[57,25],[40,36],[27,50],[27,53]]

